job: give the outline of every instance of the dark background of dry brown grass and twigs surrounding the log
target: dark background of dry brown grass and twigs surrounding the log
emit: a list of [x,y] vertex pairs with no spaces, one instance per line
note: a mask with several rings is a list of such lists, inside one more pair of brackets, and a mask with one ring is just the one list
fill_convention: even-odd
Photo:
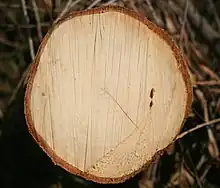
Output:
[[219,0],[1,0],[0,187],[100,186],[55,167],[36,146],[25,127],[23,96],[29,65],[51,24],[70,10],[109,4],[138,11],[164,28],[188,59],[194,87],[186,132],[120,186],[220,187]]

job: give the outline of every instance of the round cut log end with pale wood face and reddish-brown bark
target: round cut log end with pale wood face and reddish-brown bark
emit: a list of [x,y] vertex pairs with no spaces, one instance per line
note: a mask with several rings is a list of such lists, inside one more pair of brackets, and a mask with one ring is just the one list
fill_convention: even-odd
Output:
[[71,13],[44,37],[25,95],[28,128],[57,165],[119,183],[173,142],[191,106],[187,64],[144,16]]

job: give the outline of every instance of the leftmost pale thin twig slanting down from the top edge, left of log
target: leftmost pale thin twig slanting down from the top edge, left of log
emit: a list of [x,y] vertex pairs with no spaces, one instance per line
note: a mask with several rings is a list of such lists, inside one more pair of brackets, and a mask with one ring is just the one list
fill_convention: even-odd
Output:
[[[23,11],[23,14],[24,14],[24,18],[25,18],[26,24],[29,24],[30,23],[30,19],[29,19],[29,16],[28,16],[25,0],[21,0],[21,5],[22,5],[22,11]],[[33,43],[33,40],[31,38],[30,32],[28,32],[28,44],[29,44],[31,59],[33,61],[34,60],[34,56],[35,56],[35,52],[34,52],[34,43]]]

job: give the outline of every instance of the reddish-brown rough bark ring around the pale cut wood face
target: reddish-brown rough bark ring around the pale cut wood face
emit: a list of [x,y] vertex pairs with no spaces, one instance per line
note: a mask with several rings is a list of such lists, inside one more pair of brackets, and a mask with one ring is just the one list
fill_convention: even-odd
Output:
[[50,146],[37,133],[36,129],[34,128],[34,123],[33,123],[32,117],[31,117],[31,111],[30,111],[30,107],[29,107],[30,106],[30,99],[31,99],[32,85],[33,85],[35,74],[37,72],[37,67],[38,67],[38,64],[39,64],[39,60],[40,60],[41,54],[44,50],[44,47],[47,43],[47,40],[51,36],[53,30],[56,29],[63,22],[65,22],[69,19],[72,19],[74,17],[88,15],[88,14],[101,14],[101,13],[105,13],[105,12],[120,12],[122,14],[129,15],[129,16],[133,17],[136,20],[141,21],[149,29],[151,29],[153,32],[155,32],[157,35],[159,35],[159,37],[162,38],[170,46],[171,50],[173,51],[174,56],[175,56],[175,58],[177,60],[177,63],[178,63],[177,66],[178,66],[180,72],[182,73],[182,77],[183,77],[183,80],[185,82],[185,95],[187,97],[186,104],[185,104],[184,119],[182,121],[182,125],[180,126],[180,129],[176,133],[178,135],[178,133],[182,129],[182,126],[184,124],[185,119],[187,118],[188,114],[191,111],[191,103],[192,103],[192,85],[191,85],[190,77],[189,77],[189,74],[188,74],[187,62],[183,58],[180,50],[178,49],[178,47],[176,46],[174,41],[170,38],[170,36],[168,35],[167,32],[165,32],[163,29],[161,29],[161,28],[157,27],[156,25],[154,25],[144,15],[141,15],[137,12],[134,12],[132,10],[129,10],[127,8],[124,8],[124,7],[119,7],[119,6],[105,6],[105,7],[99,7],[99,8],[94,8],[94,9],[90,9],[90,10],[83,10],[83,11],[69,13],[68,15],[66,15],[62,19],[60,19],[48,31],[48,33],[45,35],[45,37],[43,38],[43,40],[42,40],[42,42],[39,46],[37,55],[35,57],[35,61],[33,62],[32,66],[31,66],[31,69],[30,69],[30,73],[29,73],[29,76],[28,76],[28,84],[27,84],[27,88],[26,88],[26,92],[25,92],[25,98],[24,98],[24,113],[25,113],[25,118],[26,118],[28,130],[29,130],[30,134],[32,135],[34,140],[39,144],[39,146],[42,148],[42,150],[52,159],[52,161],[55,165],[59,165],[62,168],[64,168],[65,170],[67,170],[68,172],[70,172],[72,174],[75,174],[75,175],[78,175],[78,176],[81,176],[81,177],[83,177],[87,180],[91,180],[91,181],[94,181],[94,182],[97,182],[97,183],[108,183],[108,184],[111,183],[111,184],[113,184],[113,183],[122,183],[122,182],[128,180],[129,178],[135,176],[139,172],[141,172],[144,168],[146,168],[149,164],[151,164],[155,160],[155,158],[157,158],[158,156],[163,155],[163,153],[166,151],[166,148],[168,146],[166,148],[161,149],[157,153],[155,153],[155,155],[152,157],[151,160],[146,161],[145,165],[143,165],[140,169],[138,169],[137,171],[132,172],[129,175],[125,175],[125,176],[118,177],[118,178],[98,177],[98,176],[89,174],[87,172],[83,172],[83,171],[77,169],[76,167],[72,166],[71,164],[68,164],[66,161],[64,161],[61,157],[59,157],[50,148]]

